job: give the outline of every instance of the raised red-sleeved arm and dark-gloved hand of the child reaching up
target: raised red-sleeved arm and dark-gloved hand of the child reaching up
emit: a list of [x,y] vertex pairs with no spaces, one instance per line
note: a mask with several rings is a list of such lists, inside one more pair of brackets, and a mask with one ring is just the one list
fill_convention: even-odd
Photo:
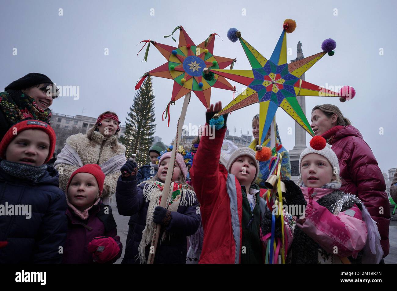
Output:
[[[226,132],[227,114],[224,115],[224,125],[219,130],[210,131],[210,119],[222,109],[222,103],[211,104],[206,111],[206,124],[198,144],[190,170],[193,187],[202,207],[211,205],[219,193],[219,158],[222,142]],[[211,133],[211,135],[210,135]]]

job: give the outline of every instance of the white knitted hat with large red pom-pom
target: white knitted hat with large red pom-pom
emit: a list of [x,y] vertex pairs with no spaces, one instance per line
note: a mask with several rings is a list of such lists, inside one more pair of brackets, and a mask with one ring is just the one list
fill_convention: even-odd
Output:
[[308,155],[309,153],[317,153],[325,157],[330,162],[334,174],[336,172],[336,174],[339,175],[338,157],[331,149],[331,147],[332,145],[328,144],[325,138],[323,138],[322,136],[314,136],[314,138],[310,140],[310,146],[306,147],[306,149],[303,150],[301,156],[299,157],[299,174],[301,174],[301,162],[303,157],[305,155]]

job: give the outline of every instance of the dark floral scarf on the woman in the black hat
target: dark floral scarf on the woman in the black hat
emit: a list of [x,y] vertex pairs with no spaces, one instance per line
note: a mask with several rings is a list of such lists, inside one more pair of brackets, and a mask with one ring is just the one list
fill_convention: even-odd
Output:
[[48,124],[51,121],[51,110],[41,109],[33,98],[21,91],[1,92],[0,109],[10,126],[24,119],[36,119]]

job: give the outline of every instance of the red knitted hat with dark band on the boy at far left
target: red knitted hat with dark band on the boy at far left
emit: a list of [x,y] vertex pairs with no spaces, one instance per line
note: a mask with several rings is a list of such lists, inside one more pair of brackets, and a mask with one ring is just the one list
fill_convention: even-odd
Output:
[[[2,157],[2,159],[6,159],[5,154],[8,145],[12,142],[12,140],[17,136],[18,133],[27,129],[39,129],[48,134],[48,137],[50,138],[50,150],[48,151],[48,157],[44,161],[44,164],[48,163],[48,161],[52,159],[52,154],[54,153],[55,149],[55,132],[49,124],[34,119],[25,119],[23,121],[20,121],[19,123],[15,123],[8,129],[0,143],[0,157]],[[14,134],[14,132],[16,134]]]

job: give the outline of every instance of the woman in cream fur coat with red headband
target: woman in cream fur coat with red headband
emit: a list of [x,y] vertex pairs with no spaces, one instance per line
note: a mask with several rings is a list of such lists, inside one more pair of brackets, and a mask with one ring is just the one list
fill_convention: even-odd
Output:
[[87,164],[97,164],[105,173],[102,201],[109,204],[116,192],[120,168],[125,163],[125,146],[118,142],[119,120],[114,112],[99,115],[87,134],[74,134],[58,155],[54,167],[59,172],[59,187],[66,190],[71,174]]

